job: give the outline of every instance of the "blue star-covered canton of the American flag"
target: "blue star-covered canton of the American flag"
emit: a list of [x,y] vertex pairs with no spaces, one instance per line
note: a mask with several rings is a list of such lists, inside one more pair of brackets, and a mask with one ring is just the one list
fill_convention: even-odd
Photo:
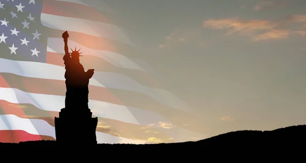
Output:
[[24,61],[46,62],[41,10],[42,1],[38,0],[0,0],[0,51],[9,51],[1,53],[1,58],[16,55]]

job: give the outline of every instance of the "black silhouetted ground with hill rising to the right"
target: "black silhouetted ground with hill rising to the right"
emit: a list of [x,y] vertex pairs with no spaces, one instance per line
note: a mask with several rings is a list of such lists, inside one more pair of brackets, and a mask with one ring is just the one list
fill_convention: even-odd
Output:
[[[1,136],[1,135],[0,135]],[[197,142],[171,143],[171,144],[98,144],[94,147],[83,147],[75,144],[73,147],[60,147],[55,141],[33,141],[16,143],[0,143],[0,150],[10,153],[21,152],[27,156],[37,155],[90,155],[109,158],[113,160],[132,159],[131,157],[147,157],[148,159],[183,157],[204,157],[217,159],[232,159],[252,155],[252,157],[274,157],[274,161],[282,160],[288,154],[294,158],[306,158],[306,125],[290,126],[272,131],[243,130],[228,132]],[[77,153],[83,153],[79,155]],[[0,153],[5,156],[4,153]],[[115,156],[116,154],[117,156]],[[131,157],[130,157],[131,156]],[[191,157],[190,157],[191,158]],[[53,158],[52,158],[53,159]],[[285,160],[282,160],[285,161]],[[290,162],[292,162],[291,160]],[[211,162],[211,161],[208,161]],[[249,161],[246,161],[249,162]]]

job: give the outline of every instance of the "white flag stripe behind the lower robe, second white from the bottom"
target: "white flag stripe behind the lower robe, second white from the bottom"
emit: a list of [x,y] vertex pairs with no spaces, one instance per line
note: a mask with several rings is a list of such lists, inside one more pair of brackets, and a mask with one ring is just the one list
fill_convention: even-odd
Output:
[[[33,104],[44,111],[60,112],[65,107],[65,96],[29,93],[14,88],[0,88],[0,99],[11,103]],[[88,106],[93,116],[139,124],[126,106],[97,100],[89,100]]]

